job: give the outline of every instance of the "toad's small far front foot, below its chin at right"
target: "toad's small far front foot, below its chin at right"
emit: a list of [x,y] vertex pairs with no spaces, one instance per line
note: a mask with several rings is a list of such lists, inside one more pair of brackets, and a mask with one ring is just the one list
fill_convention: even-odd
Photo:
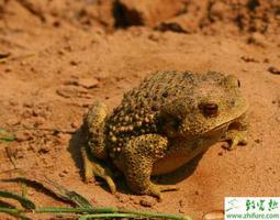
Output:
[[229,130],[226,132],[224,141],[227,141],[229,144],[228,150],[232,151],[236,148],[237,145],[247,144],[247,132],[238,130]]

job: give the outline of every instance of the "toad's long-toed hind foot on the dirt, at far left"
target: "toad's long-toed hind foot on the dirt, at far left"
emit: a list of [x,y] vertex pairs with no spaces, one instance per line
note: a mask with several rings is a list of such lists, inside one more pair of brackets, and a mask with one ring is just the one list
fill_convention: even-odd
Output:
[[94,177],[104,179],[112,194],[115,194],[115,184],[112,179],[112,174],[109,168],[101,166],[94,158],[89,160],[86,147],[81,147],[81,156],[85,169],[85,182],[90,183]]

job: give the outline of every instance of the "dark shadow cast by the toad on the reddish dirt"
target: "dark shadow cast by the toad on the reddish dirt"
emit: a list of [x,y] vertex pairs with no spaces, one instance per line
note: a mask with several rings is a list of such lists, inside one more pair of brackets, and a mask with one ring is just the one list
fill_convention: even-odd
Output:
[[[67,147],[68,152],[71,154],[71,157],[76,164],[76,166],[79,168],[79,175],[83,179],[83,165],[82,165],[82,158],[80,153],[80,147],[86,144],[86,136],[82,133],[81,128],[77,129],[76,132],[72,134],[69,145]],[[198,155],[194,157],[191,162],[187,163],[186,165],[181,166],[177,170],[165,174],[161,176],[155,176],[153,177],[153,180],[155,179],[156,183],[163,184],[163,185],[169,185],[169,184],[177,184],[189,176],[192,175],[192,173],[195,170],[200,160],[202,158],[203,154]],[[101,162],[102,163],[102,162]],[[107,166],[112,169],[112,173],[114,174],[113,179],[115,180],[115,184],[117,186],[117,191],[124,193],[124,194],[131,194],[128,186],[126,185],[126,182],[124,179],[124,176],[120,174],[120,172],[116,170],[114,166],[112,166],[111,163],[105,162]],[[97,180],[100,180],[97,178]],[[107,184],[101,180],[102,187],[110,191]],[[81,183],[85,184],[85,183]]]

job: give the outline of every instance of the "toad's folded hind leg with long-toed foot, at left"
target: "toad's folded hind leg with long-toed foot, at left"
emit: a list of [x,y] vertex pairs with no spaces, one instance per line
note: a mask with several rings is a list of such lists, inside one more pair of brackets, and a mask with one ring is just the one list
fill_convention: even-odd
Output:
[[83,121],[83,127],[88,146],[93,158],[88,155],[86,146],[81,147],[81,156],[86,183],[93,179],[94,176],[98,176],[108,183],[112,193],[115,193],[115,184],[111,178],[111,172],[97,161],[97,158],[105,160],[108,157],[104,139],[107,116],[107,106],[101,101],[96,101],[89,109]]

